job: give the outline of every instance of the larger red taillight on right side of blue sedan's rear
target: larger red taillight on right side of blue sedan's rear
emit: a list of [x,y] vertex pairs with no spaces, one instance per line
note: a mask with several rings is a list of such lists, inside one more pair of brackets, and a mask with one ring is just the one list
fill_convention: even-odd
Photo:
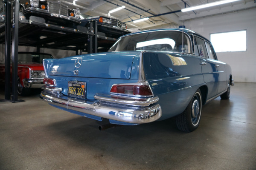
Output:
[[139,96],[153,96],[148,85],[113,85],[111,94],[129,94]]

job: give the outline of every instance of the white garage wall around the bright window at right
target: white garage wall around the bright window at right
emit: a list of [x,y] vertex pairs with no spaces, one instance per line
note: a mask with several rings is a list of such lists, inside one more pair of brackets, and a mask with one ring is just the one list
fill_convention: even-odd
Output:
[[217,57],[232,68],[235,82],[256,82],[256,9],[184,21],[186,28],[210,39],[210,34],[246,30],[247,51],[220,52]]

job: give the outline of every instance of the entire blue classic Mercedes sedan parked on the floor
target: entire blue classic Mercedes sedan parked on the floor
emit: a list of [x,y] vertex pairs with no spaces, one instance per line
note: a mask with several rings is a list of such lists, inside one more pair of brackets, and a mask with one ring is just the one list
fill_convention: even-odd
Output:
[[[196,38],[204,43],[194,45]],[[176,116],[177,127],[191,132],[199,125],[202,105],[220,95],[228,99],[233,82],[230,66],[219,62],[207,43],[190,30],[152,30],[120,37],[110,52],[45,59],[41,99],[118,125]],[[195,55],[200,48],[205,51]]]

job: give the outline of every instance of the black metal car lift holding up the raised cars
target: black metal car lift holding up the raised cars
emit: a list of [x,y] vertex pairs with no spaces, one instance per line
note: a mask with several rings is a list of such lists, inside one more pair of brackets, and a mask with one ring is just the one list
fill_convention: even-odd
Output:
[[[96,53],[99,46],[109,48],[117,39],[105,37],[98,34],[97,22],[90,22],[90,27],[85,28],[77,26],[76,28],[68,28],[47,24],[44,18],[31,16],[29,20],[19,12],[19,2],[13,1],[13,23],[11,28],[11,2],[3,0],[6,4],[6,17],[0,17],[0,22],[5,23],[5,31],[0,28],[0,43],[5,43],[5,99],[0,102],[22,102],[17,96],[17,55],[18,45],[36,46],[38,51],[42,48],[55,48],[75,50],[78,55],[78,50],[86,48],[88,54]],[[11,85],[11,33],[12,33],[12,85]],[[38,33],[38,34],[37,34]],[[57,34],[56,34],[57,33]],[[33,36],[31,36],[33,34]],[[46,37],[41,34],[51,34]],[[43,38],[42,38],[43,37]],[[31,40],[28,40],[31,38]],[[107,42],[107,43],[106,43]],[[111,43],[110,43],[111,42]],[[108,45],[108,43],[110,45]],[[11,96],[12,86],[12,99]]]

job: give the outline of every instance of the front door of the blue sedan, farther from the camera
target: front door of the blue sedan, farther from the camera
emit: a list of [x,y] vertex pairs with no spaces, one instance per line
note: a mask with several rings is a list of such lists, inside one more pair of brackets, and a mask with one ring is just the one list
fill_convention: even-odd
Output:
[[217,56],[212,48],[212,45],[210,42],[206,41],[206,47],[209,58],[212,60],[212,62],[215,63],[216,72],[218,73],[218,91],[217,94],[220,94],[221,92],[225,91],[227,88],[227,75],[225,73],[225,65],[226,63],[220,62],[217,59]]

